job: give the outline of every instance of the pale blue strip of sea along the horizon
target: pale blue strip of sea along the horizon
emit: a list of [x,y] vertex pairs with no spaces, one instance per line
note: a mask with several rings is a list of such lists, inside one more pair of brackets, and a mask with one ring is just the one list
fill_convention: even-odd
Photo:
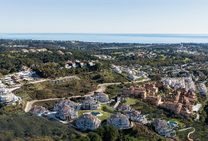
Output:
[[103,43],[208,43],[208,34],[0,33],[0,39]]

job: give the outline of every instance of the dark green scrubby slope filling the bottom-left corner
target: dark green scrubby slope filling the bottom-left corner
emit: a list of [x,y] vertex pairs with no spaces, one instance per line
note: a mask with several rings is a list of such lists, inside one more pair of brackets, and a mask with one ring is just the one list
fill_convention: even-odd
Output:
[[[73,140],[74,129],[58,122],[25,114],[0,116],[0,140]],[[73,135],[74,134],[74,135]]]

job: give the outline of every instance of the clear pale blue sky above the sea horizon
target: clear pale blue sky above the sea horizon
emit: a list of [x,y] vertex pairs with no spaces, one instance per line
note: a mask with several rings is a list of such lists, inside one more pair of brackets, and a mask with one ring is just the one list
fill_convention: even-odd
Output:
[[0,0],[0,33],[208,34],[208,0]]

